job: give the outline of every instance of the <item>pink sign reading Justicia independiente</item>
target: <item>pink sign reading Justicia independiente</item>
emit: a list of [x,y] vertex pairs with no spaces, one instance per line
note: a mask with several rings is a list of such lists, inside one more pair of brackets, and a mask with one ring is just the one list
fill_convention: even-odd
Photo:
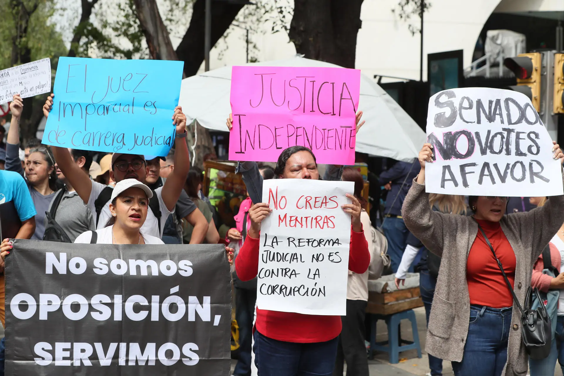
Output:
[[230,160],[276,162],[302,145],[318,163],[354,164],[359,94],[358,69],[233,67]]

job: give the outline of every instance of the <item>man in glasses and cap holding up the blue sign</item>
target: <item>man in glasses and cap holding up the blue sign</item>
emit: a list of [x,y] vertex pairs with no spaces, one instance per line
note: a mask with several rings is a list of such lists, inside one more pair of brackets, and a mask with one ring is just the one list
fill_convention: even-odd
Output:
[[[49,116],[53,105],[54,94],[51,94],[43,105],[43,114]],[[182,108],[178,106],[172,117],[173,125],[176,127],[175,137],[175,165],[177,168],[166,179],[165,184],[155,189],[154,198],[149,202],[147,220],[142,231],[147,235],[160,238],[165,226],[166,218],[174,212],[174,206],[180,196],[180,192],[186,181],[188,169],[190,169],[190,156],[186,146],[186,116]],[[163,125],[165,126],[165,125]],[[78,196],[90,207],[96,228],[104,228],[108,218],[112,216],[108,202],[111,197],[112,187],[90,180],[89,176],[83,174],[80,168],[72,161],[67,148],[52,147],[55,160],[59,169],[67,176]],[[144,156],[138,154],[113,153],[111,161],[110,178],[119,183],[125,179],[136,179],[146,182],[147,163]],[[162,220],[161,220],[162,218]]]

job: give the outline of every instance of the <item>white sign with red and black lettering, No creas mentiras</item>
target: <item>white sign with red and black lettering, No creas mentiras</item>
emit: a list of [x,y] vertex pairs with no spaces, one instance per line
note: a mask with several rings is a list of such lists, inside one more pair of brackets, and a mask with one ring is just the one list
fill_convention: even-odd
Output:
[[351,216],[341,205],[352,182],[265,180],[272,212],[261,225],[257,307],[346,315]]

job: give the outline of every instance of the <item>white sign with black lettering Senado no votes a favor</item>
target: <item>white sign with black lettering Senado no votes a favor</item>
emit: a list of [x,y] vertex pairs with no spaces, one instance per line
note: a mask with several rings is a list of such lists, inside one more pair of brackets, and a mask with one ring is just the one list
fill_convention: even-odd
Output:
[[469,87],[429,99],[425,165],[429,193],[556,196],[562,172],[552,140],[526,95]]

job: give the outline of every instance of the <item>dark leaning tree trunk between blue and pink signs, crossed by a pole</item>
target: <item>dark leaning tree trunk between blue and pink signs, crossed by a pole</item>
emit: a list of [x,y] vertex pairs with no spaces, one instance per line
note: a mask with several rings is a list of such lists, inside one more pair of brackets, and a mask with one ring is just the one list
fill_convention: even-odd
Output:
[[[239,11],[241,4],[226,1],[211,3],[211,47],[217,43],[229,28]],[[196,0],[193,6],[190,26],[177,47],[178,60],[184,60],[186,77],[195,75],[204,61],[205,39],[205,0]]]

